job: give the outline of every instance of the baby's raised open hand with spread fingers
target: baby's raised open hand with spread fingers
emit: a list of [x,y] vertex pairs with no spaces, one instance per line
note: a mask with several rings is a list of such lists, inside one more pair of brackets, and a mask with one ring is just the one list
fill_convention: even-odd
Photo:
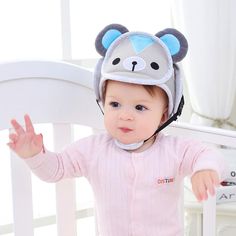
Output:
[[28,115],[24,116],[25,130],[15,120],[11,124],[15,133],[9,134],[8,146],[20,157],[29,158],[38,154],[43,148],[43,137],[41,134],[35,134],[34,127]]

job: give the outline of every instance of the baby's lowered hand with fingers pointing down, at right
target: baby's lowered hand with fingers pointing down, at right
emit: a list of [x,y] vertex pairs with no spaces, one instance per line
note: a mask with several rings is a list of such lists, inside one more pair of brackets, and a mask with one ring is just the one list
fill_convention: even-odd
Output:
[[192,189],[198,201],[207,200],[208,194],[215,194],[215,187],[220,185],[219,176],[214,170],[196,172],[192,178]]

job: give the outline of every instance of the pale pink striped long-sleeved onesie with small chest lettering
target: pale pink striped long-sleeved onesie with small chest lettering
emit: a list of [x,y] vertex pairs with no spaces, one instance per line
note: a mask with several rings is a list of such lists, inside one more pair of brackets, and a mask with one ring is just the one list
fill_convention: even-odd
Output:
[[225,166],[203,144],[161,133],[140,153],[119,149],[105,133],[61,153],[46,150],[26,163],[48,182],[85,176],[93,188],[100,236],[183,236],[183,178],[203,169],[222,178]]

